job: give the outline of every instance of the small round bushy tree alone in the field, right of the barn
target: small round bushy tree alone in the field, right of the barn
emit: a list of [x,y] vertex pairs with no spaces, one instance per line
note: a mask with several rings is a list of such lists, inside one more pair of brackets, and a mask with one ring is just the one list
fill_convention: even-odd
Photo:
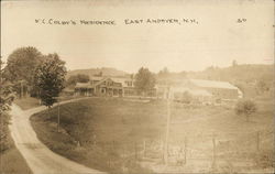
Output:
[[245,116],[246,121],[252,113],[256,112],[256,104],[253,100],[243,99],[237,102],[235,113],[240,116]]

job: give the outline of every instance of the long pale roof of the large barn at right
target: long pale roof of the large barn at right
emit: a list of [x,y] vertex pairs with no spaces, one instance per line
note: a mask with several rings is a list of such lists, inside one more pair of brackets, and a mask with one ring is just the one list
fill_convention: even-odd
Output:
[[217,81],[217,80],[206,80],[206,79],[190,79],[193,84],[199,87],[206,88],[223,88],[223,89],[237,89],[238,87],[233,86],[228,81]]

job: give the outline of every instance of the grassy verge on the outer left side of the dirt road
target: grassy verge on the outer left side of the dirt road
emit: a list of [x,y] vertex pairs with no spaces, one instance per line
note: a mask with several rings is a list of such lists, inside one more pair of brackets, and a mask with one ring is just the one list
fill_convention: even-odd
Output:
[[8,129],[9,116],[0,116],[0,174],[31,174],[25,160],[14,146]]

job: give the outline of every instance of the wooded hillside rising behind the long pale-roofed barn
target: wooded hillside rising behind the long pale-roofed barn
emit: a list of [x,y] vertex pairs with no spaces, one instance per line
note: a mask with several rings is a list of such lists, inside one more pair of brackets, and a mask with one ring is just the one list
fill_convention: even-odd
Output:
[[157,74],[158,81],[176,81],[184,78],[229,81],[238,86],[244,96],[256,95],[257,84],[264,81],[271,95],[274,90],[274,65],[243,64],[229,67],[208,67],[201,72]]

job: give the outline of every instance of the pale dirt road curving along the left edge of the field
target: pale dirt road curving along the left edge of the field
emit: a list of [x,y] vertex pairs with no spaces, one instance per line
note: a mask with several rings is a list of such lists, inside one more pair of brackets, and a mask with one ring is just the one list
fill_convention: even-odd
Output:
[[[68,100],[61,104],[72,102]],[[19,149],[28,165],[34,174],[53,173],[102,173],[80,165],[68,159],[65,159],[50,149],[47,149],[36,137],[30,123],[30,117],[45,107],[37,107],[29,110],[22,110],[16,105],[12,105],[10,115],[12,116],[9,126],[15,146]]]

